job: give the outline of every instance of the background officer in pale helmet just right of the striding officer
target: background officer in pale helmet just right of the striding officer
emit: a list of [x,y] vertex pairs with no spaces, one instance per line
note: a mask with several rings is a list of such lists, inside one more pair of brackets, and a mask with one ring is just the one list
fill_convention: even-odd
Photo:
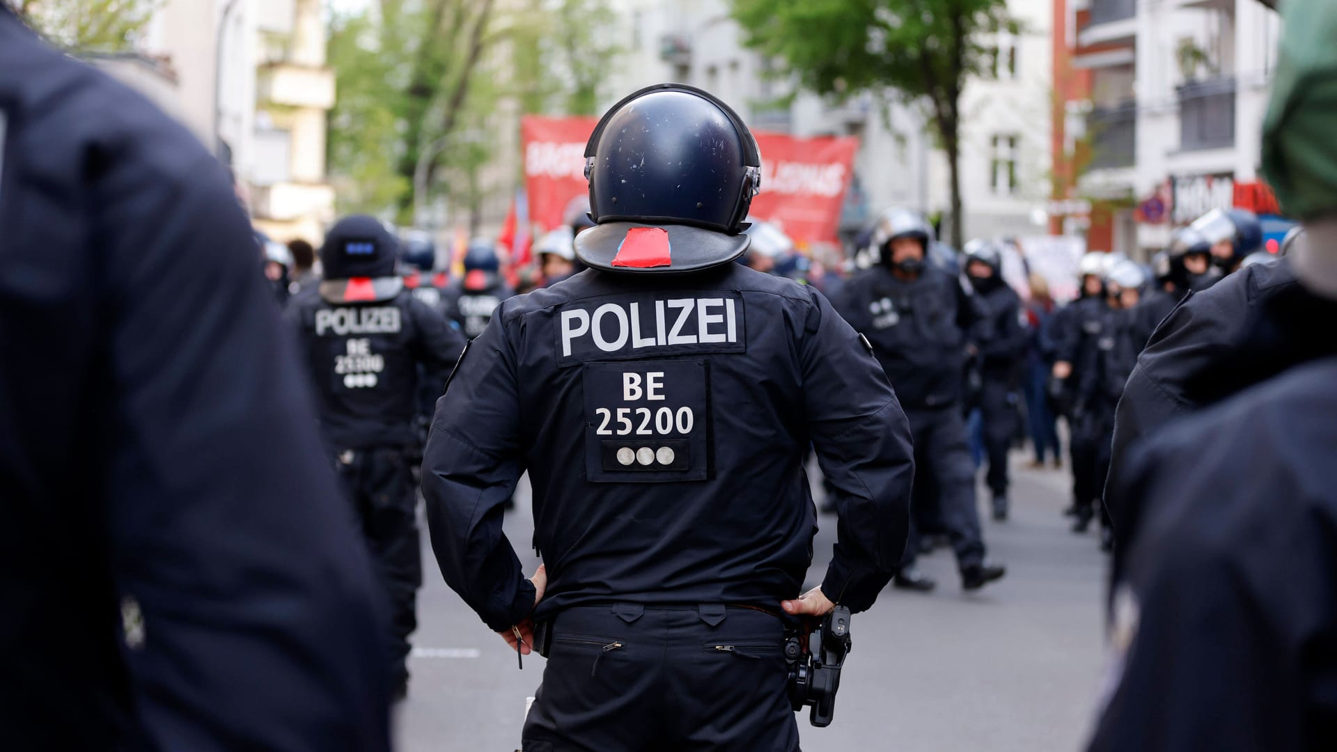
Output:
[[985,316],[976,322],[971,339],[980,363],[980,413],[989,460],[987,482],[993,492],[993,519],[1007,519],[1007,452],[1017,431],[1021,364],[1027,345],[1021,298],[1003,281],[1003,253],[993,242],[965,244],[965,276],[985,308]]

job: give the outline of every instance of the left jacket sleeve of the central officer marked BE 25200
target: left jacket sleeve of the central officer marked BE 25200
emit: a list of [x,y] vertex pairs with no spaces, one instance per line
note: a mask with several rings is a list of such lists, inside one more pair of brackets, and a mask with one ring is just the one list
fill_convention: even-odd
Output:
[[441,575],[493,632],[520,624],[535,606],[533,583],[501,531],[505,502],[524,472],[504,318],[505,304],[460,359],[422,452],[422,496]]

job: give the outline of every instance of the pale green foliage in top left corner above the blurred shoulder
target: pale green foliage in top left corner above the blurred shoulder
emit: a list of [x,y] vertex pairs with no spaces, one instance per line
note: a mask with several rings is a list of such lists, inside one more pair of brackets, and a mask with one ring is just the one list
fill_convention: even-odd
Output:
[[[4,0],[0,0],[4,1]],[[75,52],[119,52],[162,0],[15,0],[13,8],[47,39]]]

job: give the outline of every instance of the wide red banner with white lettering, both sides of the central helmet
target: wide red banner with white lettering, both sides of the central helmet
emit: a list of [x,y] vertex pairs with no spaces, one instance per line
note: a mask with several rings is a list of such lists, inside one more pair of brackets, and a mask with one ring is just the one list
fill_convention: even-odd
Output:
[[[535,115],[520,120],[529,221],[544,231],[562,225],[571,199],[588,191],[584,146],[598,123],[595,118]],[[858,139],[755,136],[762,181],[749,217],[775,222],[800,242],[834,242]]]

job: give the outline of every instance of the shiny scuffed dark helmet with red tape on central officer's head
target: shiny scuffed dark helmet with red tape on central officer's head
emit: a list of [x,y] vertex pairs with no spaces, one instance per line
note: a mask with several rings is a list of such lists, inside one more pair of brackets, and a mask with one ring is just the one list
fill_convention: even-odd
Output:
[[666,83],[612,106],[586,145],[590,217],[576,256],[608,272],[693,272],[747,248],[761,154],[706,91]]

